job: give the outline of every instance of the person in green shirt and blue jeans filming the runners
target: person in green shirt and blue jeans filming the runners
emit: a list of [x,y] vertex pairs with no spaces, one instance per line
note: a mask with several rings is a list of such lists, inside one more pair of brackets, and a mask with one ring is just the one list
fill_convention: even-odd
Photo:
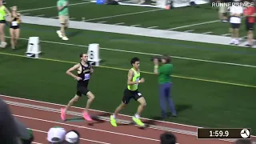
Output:
[[172,86],[170,74],[173,72],[173,64],[170,64],[170,57],[168,55],[162,56],[161,62],[162,64],[159,66],[158,58],[154,58],[154,74],[158,75],[159,98],[160,106],[162,109],[162,118],[167,117],[166,102],[170,106],[172,115],[177,117],[174,102],[172,98],[170,98],[170,89]]

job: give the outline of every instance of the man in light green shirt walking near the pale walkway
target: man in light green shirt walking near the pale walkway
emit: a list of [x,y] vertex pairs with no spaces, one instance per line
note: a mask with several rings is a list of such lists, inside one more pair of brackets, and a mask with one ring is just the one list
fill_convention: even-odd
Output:
[[62,38],[62,40],[69,40],[69,38],[66,38],[65,30],[68,27],[69,23],[69,8],[68,8],[69,2],[68,0],[58,0],[57,6],[58,6],[58,18],[61,23],[61,30],[57,30],[57,34],[59,38]]

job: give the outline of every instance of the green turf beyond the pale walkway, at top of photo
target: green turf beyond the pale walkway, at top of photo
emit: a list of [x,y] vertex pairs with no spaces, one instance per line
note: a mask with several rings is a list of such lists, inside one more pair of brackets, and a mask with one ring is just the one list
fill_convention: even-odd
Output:
[[[18,5],[22,14],[44,18],[57,18],[55,1],[39,2],[30,6],[28,2],[8,2],[10,6]],[[161,10],[140,6],[104,6],[88,1],[70,1],[70,18],[74,21],[98,22],[123,26],[152,27],[160,30],[177,30],[190,33],[206,33],[230,36],[229,23],[218,21],[218,8],[209,4],[182,9]],[[43,8],[43,9],[42,9]],[[242,24],[240,37],[246,36]]]

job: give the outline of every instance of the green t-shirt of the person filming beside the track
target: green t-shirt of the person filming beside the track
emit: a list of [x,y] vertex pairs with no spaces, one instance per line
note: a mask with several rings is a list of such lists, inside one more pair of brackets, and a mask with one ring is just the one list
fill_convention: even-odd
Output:
[[158,83],[167,83],[171,82],[170,74],[173,72],[173,65],[172,64],[163,64],[158,68]]

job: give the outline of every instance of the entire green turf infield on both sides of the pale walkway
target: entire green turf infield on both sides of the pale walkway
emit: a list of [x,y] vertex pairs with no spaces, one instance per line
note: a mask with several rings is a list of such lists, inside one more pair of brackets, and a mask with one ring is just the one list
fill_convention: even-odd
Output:
[[[45,14],[43,17],[47,18],[57,16],[54,7],[31,10],[55,6],[56,2],[50,0],[33,2],[36,2],[34,6],[28,6],[26,2],[17,3],[10,0],[8,6],[15,4],[31,16],[39,14]],[[71,3],[78,2],[81,1],[73,0]],[[138,6],[103,6],[94,3],[70,7],[71,18],[75,18],[74,20],[81,20],[82,17],[99,18],[92,22],[107,21],[106,23],[111,24],[125,22],[129,26],[141,24],[141,26],[159,26],[162,29],[213,21],[217,18],[216,10],[206,8],[157,10]],[[186,15],[191,9],[194,14],[203,13],[202,17],[192,18]],[[130,14],[146,10],[156,11]],[[118,14],[123,15],[110,17]],[[178,14],[185,16],[177,18]],[[198,26],[196,30],[206,32],[212,28],[212,31],[216,30],[221,34],[224,30],[221,25],[227,23],[212,22]],[[190,30],[195,29],[194,27]],[[66,104],[74,96],[76,82],[65,72],[79,61],[78,54],[86,51],[86,46],[97,42],[102,47],[100,56],[103,61],[101,66],[95,68],[94,76],[90,81],[90,90],[96,95],[93,109],[112,112],[118,106],[122,99],[122,91],[126,87],[130,58],[137,56],[141,59],[142,77],[146,78],[146,82],[139,86],[147,101],[142,117],[159,116],[158,84],[156,76],[151,73],[153,64],[150,62],[150,57],[153,54],[171,54],[175,56],[172,97],[178,109],[178,118],[166,118],[165,121],[196,126],[256,129],[254,124],[256,69],[245,66],[255,65],[254,49],[74,29],[68,30],[67,35],[70,40],[63,42],[58,38],[56,30],[58,27],[22,24],[22,39],[18,50],[12,51],[9,47],[0,51],[2,70],[0,94]],[[9,36],[8,29],[6,34]],[[38,36],[42,40],[43,54],[38,60],[24,58],[27,38],[30,36]],[[222,62],[241,65],[234,66]],[[85,102],[86,98],[83,98],[83,101],[78,102],[76,106],[84,106]],[[136,108],[137,103],[131,102],[123,114],[134,114]]]

